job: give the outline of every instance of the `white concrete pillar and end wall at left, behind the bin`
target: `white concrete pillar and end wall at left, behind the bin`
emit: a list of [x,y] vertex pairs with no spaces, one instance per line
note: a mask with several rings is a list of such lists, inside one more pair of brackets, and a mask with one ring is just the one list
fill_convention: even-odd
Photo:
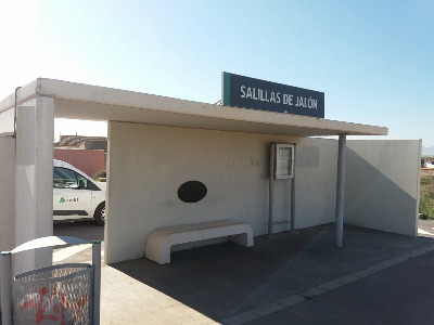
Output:
[[[13,109],[0,114],[0,251],[53,233],[54,101],[36,98],[20,105],[16,116],[14,138]],[[17,253],[13,273],[51,261],[51,249]]]

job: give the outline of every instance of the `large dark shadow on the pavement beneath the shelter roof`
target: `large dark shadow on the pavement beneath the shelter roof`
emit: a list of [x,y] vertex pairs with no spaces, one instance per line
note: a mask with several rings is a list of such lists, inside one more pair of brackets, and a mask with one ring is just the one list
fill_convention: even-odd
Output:
[[174,252],[165,265],[139,259],[111,266],[221,321],[434,244],[349,225],[344,247],[334,243],[334,224],[326,224],[258,236],[250,248],[225,243]]

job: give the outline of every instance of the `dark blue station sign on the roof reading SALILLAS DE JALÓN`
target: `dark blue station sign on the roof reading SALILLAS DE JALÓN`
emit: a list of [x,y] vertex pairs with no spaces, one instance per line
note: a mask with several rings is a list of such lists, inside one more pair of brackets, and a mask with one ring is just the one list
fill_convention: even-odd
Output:
[[324,93],[222,73],[226,106],[324,117]]

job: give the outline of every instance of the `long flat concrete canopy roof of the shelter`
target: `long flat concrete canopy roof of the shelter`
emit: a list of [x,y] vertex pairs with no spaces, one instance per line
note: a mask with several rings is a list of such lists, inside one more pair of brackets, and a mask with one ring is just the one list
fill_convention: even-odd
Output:
[[[386,135],[387,128],[316,117],[228,107],[104,87],[38,78],[18,91],[17,103],[54,98],[55,117],[267,133],[294,136]],[[0,113],[14,106],[11,94]]]

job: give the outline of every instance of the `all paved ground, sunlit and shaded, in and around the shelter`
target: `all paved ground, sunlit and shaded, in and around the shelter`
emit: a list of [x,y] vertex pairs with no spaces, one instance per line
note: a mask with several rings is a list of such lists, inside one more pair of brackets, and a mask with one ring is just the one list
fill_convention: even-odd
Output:
[[[101,324],[434,324],[434,221],[420,237],[332,224],[102,268]],[[102,239],[91,223],[55,235]],[[101,237],[102,236],[102,237]],[[55,252],[90,260],[90,249]]]

